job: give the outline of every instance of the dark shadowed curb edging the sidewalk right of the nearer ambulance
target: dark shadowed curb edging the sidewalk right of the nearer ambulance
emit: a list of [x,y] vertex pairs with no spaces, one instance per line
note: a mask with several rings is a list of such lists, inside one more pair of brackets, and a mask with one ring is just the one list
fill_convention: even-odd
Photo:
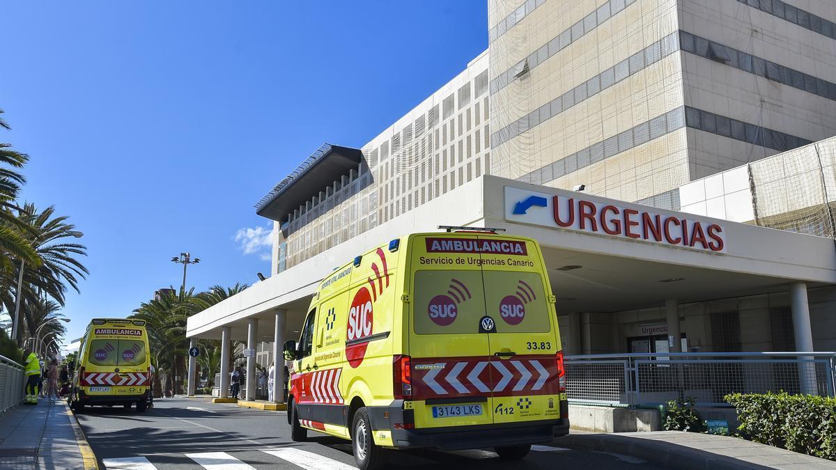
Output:
[[744,462],[733,457],[717,455],[712,452],[682,447],[669,442],[660,442],[640,437],[626,437],[615,434],[568,434],[553,441],[560,447],[592,451],[614,452],[630,457],[638,457],[664,467],[682,470],[763,470],[762,465]]

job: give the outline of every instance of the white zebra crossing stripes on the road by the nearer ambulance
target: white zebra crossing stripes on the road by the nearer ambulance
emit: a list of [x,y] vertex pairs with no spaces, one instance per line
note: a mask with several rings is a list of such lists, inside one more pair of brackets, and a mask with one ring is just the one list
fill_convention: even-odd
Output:
[[[569,449],[533,446],[533,452],[568,452]],[[495,457],[492,452],[480,452],[479,457]],[[341,460],[354,462],[350,454],[340,454]],[[414,457],[412,457],[414,458]],[[275,447],[230,452],[189,452],[185,454],[155,454],[140,457],[102,459],[107,470],[161,470],[164,468],[205,468],[206,470],[256,470],[270,468],[303,468],[304,470],[357,470],[353,464],[326,457],[298,447]],[[258,467],[254,467],[257,465]]]

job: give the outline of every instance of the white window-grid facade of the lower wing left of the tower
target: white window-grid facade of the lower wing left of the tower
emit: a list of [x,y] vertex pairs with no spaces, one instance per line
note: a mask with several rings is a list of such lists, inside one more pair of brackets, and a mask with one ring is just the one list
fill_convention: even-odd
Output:
[[[446,95],[443,116],[431,105],[390,138],[365,146],[368,167],[325,186],[282,223],[278,272],[482,176],[490,168],[489,108],[484,70]],[[474,146],[482,135],[484,145]]]

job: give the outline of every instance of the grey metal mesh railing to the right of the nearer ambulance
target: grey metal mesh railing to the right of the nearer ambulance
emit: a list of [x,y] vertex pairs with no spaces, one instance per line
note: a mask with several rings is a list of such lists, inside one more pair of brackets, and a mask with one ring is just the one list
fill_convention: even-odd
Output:
[[729,393],[836,396],[836,353],[635,353],[564,359],[570,402],[650,405],[688,396],[728,406]]

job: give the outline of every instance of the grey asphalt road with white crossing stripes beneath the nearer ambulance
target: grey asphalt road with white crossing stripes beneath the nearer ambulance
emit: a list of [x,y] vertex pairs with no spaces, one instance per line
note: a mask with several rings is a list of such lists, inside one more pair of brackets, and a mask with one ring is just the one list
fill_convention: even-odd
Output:
[[[308,432],[308,442],[292,442],[283,411],[255,411],[230,404],[174,398],[155,401],[154,408],[144,414],[114,406],[88,407],[77,416],[102,468],[354,468],[348,441]],[[618,454],[548,446],[536,449],[517,462],[502,462],[497,454],[487,450],[396,451],[389,452],[386,467],[415,470],[661,468]]]

